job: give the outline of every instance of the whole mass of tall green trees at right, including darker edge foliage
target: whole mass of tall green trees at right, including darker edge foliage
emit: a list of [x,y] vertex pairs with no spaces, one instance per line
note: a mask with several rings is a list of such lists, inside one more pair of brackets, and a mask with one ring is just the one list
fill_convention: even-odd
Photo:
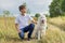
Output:
[[50,8],[50,17],[65,16],[65,0],[53,0]]

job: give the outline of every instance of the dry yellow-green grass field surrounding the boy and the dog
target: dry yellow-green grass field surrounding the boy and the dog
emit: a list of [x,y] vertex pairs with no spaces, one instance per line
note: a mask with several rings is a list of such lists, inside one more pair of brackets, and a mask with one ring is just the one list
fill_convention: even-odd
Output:
[[[14,19],[0,17],[0,43],[38,43],[36,39],[22,41],[15,29]],[[40,43],[65,43],[65,17],[48,18],[47,35]]]

